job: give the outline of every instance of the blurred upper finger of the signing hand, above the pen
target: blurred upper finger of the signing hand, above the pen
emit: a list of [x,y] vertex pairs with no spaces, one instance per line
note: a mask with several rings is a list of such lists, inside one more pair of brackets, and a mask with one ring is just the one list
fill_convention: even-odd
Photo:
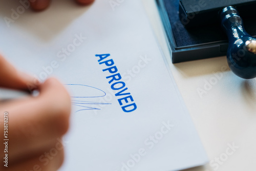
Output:
[[22,72],[18,72],[0,55],[0,87],[28,90],[28,84],[38,85],[39,81]]

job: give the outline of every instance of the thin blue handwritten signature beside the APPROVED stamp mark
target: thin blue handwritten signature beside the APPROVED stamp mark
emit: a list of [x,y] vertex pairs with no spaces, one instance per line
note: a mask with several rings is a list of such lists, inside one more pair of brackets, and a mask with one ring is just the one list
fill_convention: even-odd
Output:
[[[102,102],[95,102],[96,99],[100,97],[104,97],[106,93],[103,90],[100,90],[95,87],[86,86],[83,84],[66,84],[70,88],[73,94],[72,98],[72,105],[79,106],[82,109],[76,111],[87,111],[87,110],[101,110],[97,107],[97,105],[108,105],[111,103],[102,103]],[[88,98],[90,100],[84,101],[82,99]],[[94,101],[91,101],[95,99]],[[94,107],[93,107],[94,106]]]

